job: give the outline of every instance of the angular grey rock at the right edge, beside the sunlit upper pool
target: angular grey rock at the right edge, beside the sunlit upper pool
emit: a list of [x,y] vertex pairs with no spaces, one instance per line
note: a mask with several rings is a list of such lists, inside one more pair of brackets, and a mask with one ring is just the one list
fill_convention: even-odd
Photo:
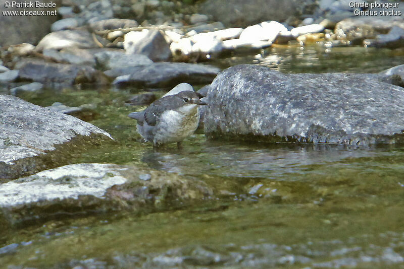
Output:
[[388,34],[377,35],[376,39],[365,39],[364,45],[377,48],[399,48],[404,47],[404,28],[393,26]]

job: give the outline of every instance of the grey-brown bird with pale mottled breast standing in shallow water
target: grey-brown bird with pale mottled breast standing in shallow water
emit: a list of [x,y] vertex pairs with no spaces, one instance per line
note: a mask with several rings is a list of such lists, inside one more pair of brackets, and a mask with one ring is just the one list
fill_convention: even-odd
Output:
[[128,116],[137,120],[137,132],[146,142],[153,143],[154,148],[176,142],[180,149],[182,141],[198,127],[199,105],[207,103],[194,91],[181,91],[163,96],[145,110]]

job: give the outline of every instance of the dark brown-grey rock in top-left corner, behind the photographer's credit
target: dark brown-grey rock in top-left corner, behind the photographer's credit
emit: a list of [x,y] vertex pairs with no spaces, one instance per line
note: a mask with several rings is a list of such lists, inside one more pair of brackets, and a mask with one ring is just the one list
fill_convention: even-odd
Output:
[[[0,0],[0,12],[21,12],[24,9],[6,8],[6,0]],[[39,1],[40,3],[49,3]],[[18,3],[18,2],[17,2]],[[32,2],[34,3],[34,2]],[[55,9],[28,9],[29,11],[54,11]],[[57,16],[0,16],[0,47],[23,42],[36,44],[49,32],[51,24],[57,20]],[[7,27],[6,27],[7,26]]]

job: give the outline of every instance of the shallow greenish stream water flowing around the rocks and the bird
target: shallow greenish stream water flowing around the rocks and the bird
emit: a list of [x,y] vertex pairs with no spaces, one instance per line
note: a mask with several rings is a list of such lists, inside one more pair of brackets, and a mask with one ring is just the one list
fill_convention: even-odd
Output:
[[[272,48],[215,64],[372,73],[404,59],[400,51],[355,47],[300,52]],[[80,153],[72,163],[145,164],[203,180],[217,199],[0,233],[4,268],[404,268],[404,146],[236,143],[206,140],[199,131],[182,150],[154,151],[138,142],[127,117],[144,107],[124,105],[141,90],[62,89],[21,97],[42,106],[96,105],[89,122],[116,143]]]

